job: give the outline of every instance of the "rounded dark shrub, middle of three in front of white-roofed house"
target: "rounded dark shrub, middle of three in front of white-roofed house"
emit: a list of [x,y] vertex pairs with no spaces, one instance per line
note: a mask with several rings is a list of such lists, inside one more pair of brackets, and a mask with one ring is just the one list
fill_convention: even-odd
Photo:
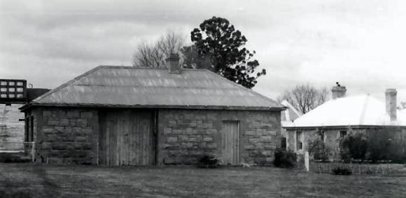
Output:
[[363,133],[347,135],[339,143],[339,155],[342,160],[348,162],[353,159],[364,160],[367,154],[368,142]]

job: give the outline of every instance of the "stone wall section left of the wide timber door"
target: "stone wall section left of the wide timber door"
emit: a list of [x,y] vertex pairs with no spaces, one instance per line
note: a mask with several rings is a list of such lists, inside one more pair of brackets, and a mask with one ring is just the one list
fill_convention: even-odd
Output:
[[97,164],[96,110],[35,108],[30,114],[34,116],[37,161]]

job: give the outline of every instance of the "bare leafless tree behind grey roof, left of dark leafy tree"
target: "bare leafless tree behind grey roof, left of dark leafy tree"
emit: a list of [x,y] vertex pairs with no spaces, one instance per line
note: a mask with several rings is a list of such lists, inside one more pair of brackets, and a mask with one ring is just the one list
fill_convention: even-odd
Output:
[[185,36],[172,31],[161,36],[155,43],[139,43],[134,52],[132,66],[161,68],[171,53],[179,53],[185,43]]

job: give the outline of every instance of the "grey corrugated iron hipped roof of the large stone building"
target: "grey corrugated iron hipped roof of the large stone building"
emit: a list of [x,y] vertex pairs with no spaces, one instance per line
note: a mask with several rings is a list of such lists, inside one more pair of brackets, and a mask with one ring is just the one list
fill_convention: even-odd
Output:
[[[99,66],[29,105],[283,109],[283,105],[209,70]],[[22,108],[24,109],[24,107]]]

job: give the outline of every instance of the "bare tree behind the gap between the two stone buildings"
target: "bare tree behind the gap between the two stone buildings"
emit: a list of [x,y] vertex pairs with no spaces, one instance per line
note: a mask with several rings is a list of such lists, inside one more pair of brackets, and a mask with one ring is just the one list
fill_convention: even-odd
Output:
[[328,89],[316,89],[310,84],[301,84],[292,90],[283,91],[278,100],[288,100],[293,107],[305,114],[327,101],[329,95]]

